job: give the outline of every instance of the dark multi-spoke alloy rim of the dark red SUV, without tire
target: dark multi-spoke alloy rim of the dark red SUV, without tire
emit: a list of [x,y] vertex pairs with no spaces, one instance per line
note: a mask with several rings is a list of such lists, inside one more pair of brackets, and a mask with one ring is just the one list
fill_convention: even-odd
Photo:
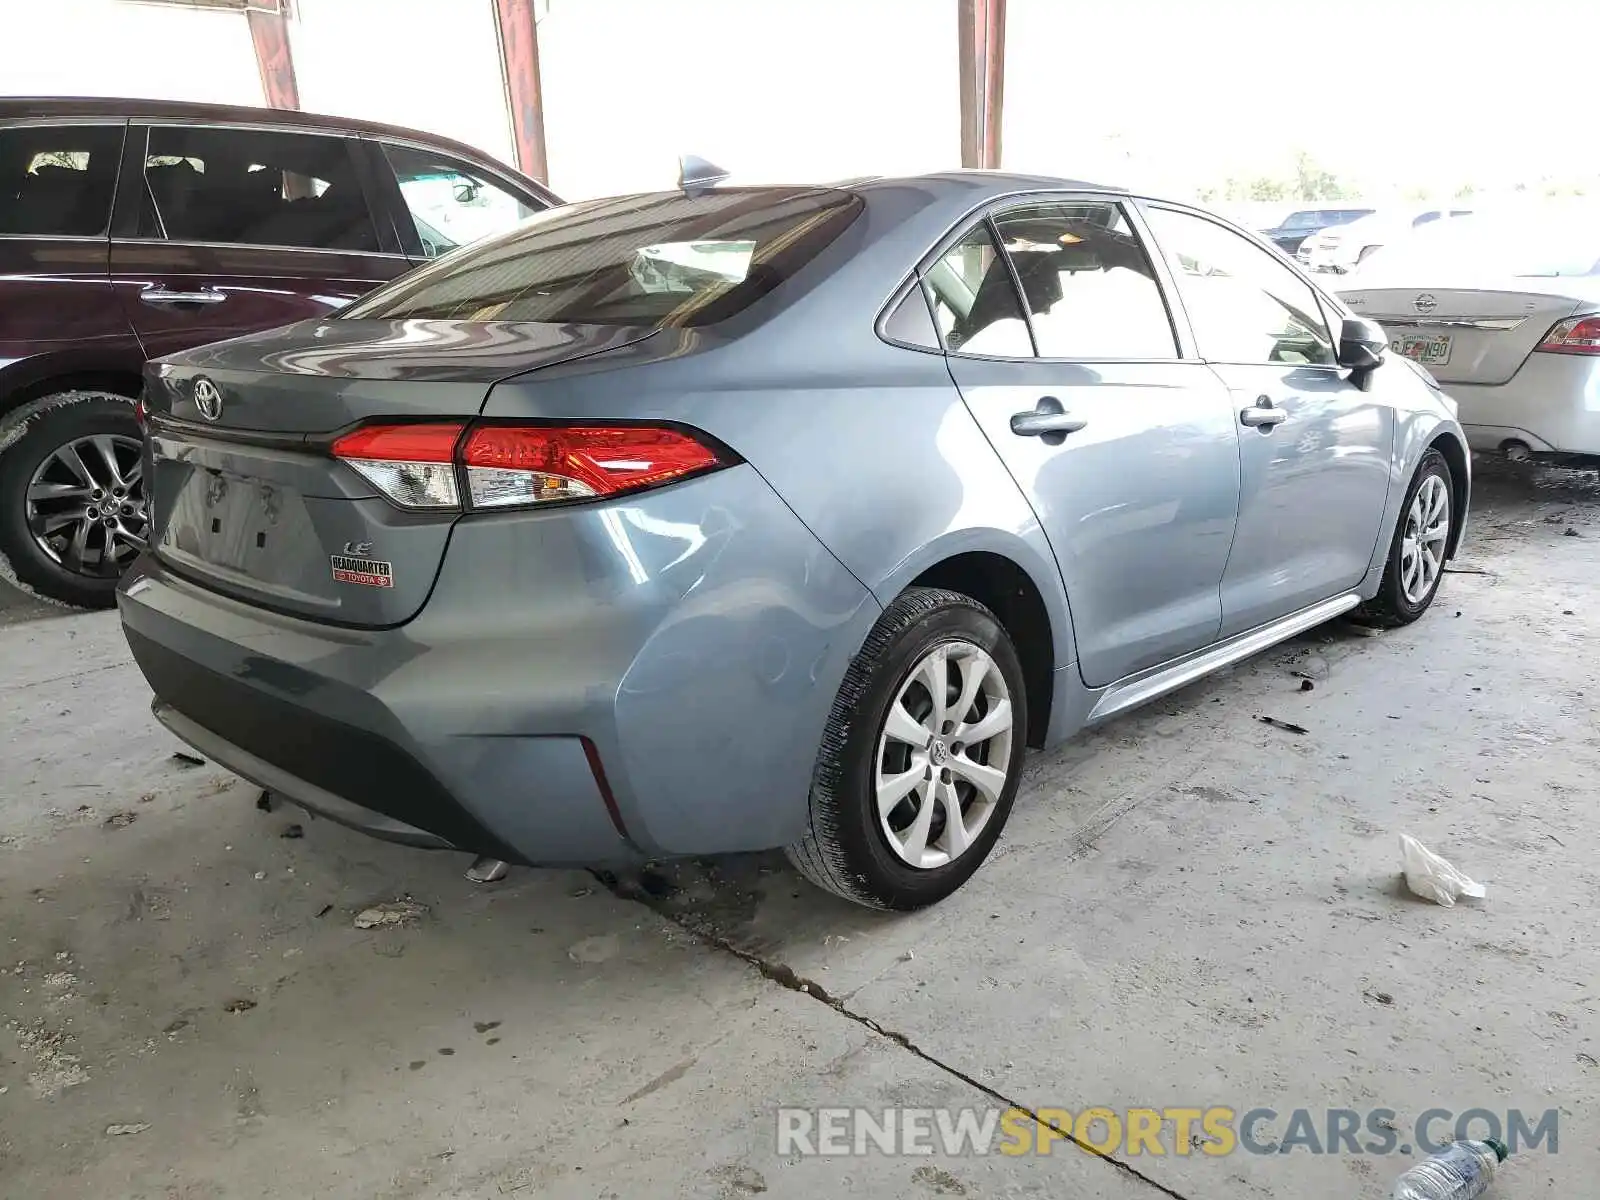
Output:
[[27,483],[29,533],[74,574],[120,576],[144,549],[147,522],[138,438],[74,438],[51,451]]

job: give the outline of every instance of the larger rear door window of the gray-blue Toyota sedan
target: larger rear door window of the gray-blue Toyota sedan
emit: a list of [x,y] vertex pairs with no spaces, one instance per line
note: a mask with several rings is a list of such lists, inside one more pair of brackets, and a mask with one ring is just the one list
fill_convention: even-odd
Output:
[[1030,205],[995,218],[1045,358],[1174,358],[1150,259],[1115,203]]

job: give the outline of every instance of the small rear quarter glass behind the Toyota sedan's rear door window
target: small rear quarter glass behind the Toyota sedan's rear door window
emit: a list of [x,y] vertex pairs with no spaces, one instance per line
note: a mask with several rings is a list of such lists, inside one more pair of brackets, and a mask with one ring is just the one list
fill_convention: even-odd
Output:
[[974,226],[923,277],[946,347],[995,358],[1032,358],[1034,339],[1018,302],[1011,266],[989,234]]

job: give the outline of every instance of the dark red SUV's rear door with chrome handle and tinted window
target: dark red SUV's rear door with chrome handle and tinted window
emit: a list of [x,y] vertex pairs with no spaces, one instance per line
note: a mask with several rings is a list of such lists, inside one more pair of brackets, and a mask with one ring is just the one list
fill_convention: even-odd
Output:
[[130,130],[112,285],[152,358],[344,307],[410,267],[352,139]]

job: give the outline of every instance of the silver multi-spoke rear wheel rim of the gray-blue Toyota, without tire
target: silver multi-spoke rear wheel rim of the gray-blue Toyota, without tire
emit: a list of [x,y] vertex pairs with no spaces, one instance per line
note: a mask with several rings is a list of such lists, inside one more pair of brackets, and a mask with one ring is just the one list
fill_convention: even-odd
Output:
[[954,862],[1000,803],[1011,762],[1011,693],[971,642],[944,642],[906,675],[878,736],[878,824],[912,867]]

